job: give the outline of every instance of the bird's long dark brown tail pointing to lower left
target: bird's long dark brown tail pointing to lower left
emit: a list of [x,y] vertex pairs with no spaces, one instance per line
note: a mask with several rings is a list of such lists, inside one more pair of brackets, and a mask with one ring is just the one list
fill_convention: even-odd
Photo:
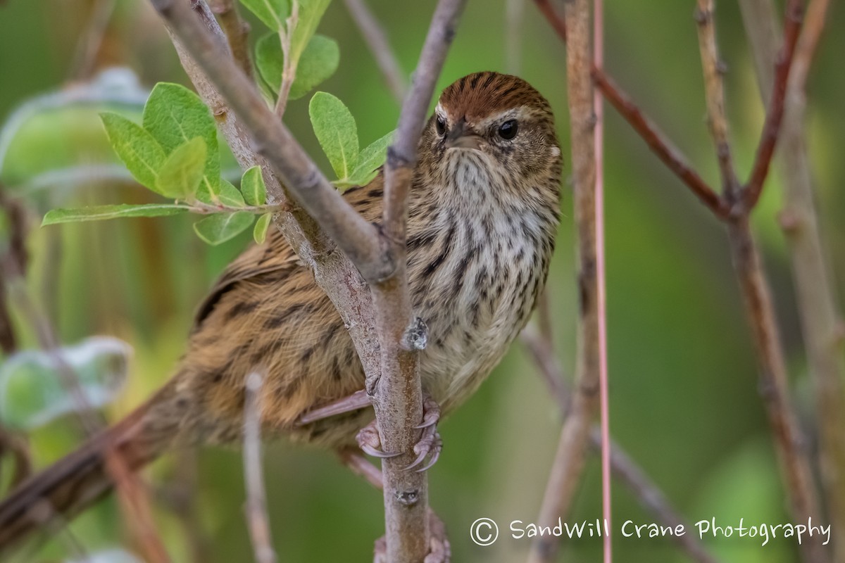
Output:
[[54,518],[66,521],[105,495],[114,485],[115,460],[135,471],[159,457],[177,430],[177,420],[157,416],[161,403],[168,400],[168,387],[3,499],[0,554],[47,523],[57,522]]

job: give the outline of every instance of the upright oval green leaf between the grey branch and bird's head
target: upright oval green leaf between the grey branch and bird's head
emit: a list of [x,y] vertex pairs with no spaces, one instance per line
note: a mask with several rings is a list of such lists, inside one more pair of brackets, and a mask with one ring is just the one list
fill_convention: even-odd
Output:
[[317,92],[308,105],[308,115],[335,174],[349,177],[358,160],[358,132],[352,113],[335,96]]

